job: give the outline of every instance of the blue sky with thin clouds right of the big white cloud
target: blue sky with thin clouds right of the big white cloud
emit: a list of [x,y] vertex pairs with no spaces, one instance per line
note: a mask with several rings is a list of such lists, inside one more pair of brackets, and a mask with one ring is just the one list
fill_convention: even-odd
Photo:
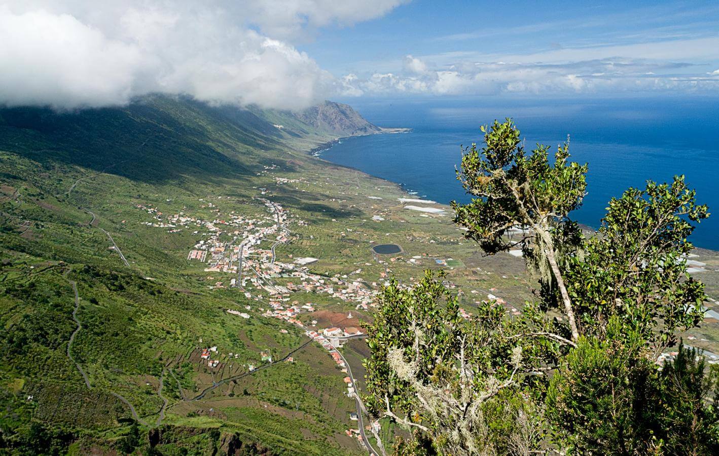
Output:
[[356,75],[365,96],[719,88],[719,2],[497,5],[415,0],[378,19],[331,24],[297,46],[337,78]]

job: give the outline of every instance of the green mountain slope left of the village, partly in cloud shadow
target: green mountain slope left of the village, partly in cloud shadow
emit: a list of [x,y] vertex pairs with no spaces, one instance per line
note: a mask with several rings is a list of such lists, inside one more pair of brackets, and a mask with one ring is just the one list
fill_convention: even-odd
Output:
[[[257,199],[268,168],[316,169],[306,150],[371,125],[342,108],[335,127],[324,106],[321,124],[165,96],[0,110],[0,451],[360,451],[326,352],[261,317],[262,302],[210,290],[206,264],[186,259],[201,233],[168,233],[144,209],[271,223]],[[348,216],[324,200],[288,189],[283,204]],[[245,306],[248,319],[226,312]],[[216,368],[200,358],[209,346]],[[262,350],[293,363],[267,365]]]

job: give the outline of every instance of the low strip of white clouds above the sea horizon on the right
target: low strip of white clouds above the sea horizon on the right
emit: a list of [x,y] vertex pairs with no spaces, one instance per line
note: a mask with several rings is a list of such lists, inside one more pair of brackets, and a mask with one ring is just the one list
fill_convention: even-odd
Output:
[[[690,40],[695,43],[695,40]],[[365,78],[354,76],[345,93],[430,93],[434,95],[495,95],[500,93],[531,93],[556,95],[572,93],[618,93],[641,91],[709,91],[719,88],[719,70],[697,71],[702,65],[681,60],[660,60],[636,57],[641,46],[622,47],[629,57],[582,59],[579,50],[559,50],[526,55],[494,56],[493,61],[472,61],[466,53],[413,57],[402,62],[400,73],[375,73]],[[654,53],[659,47],[652,45]],[[668,46],[674,56],[676,46]],[[619,50],[613,47],[613,50]],[[648,49],[645,47],[645,50]],[[632,52],[630,52],[630,50]],[[698,52],[698,51],[697,51]],[[713,51],[702,51],[711,52]],[[608,51],[587,50],[585,57],[609,55]],[[551,56],[551,59],[549,58]],[[426,62],[444,60],[443,65],[430,67]],[[546,60],[544,60],[546,59]],[[551,62],[549,61],[551,60]]]

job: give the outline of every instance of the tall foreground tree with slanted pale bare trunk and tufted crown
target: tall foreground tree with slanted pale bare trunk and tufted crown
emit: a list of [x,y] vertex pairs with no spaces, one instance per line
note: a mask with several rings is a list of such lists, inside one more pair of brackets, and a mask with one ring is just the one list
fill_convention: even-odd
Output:
[[[569,140],[549,162],[549,146],[537,145],[526,154],[520,132],[511,119],[482,126],[485,146],[465,150],[457,178],[474,198],[467,205],[452,202],[454,222],[467,228],[485,252],[493,254],[521,246],[525,257],[542,272],[546,287],[557,289],[574,342],[579,338],[572,300],[560,269],[562,259],[580,243],[577,223],[569,213],[580,207],[587,183],[587,165],[568,162]],[[480,153],[481,152],[481,153]],[[516,241],[508,236],[519,231]]]

